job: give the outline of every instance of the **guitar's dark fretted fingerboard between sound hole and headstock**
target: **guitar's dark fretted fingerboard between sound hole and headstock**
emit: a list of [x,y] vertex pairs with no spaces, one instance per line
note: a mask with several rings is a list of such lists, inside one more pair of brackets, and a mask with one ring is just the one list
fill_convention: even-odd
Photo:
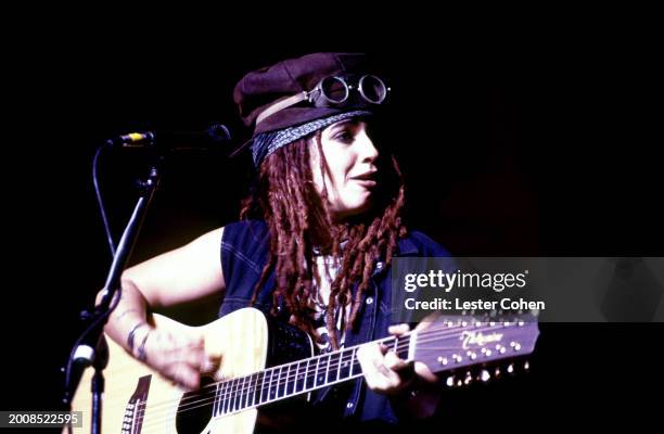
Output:
[[[390,336],[375,342],[390,346],[400,358],[407,359],[410,336]],[[222,380],[216,385],[214,414],[234,413],[359,378],[362,375],[357,360],[360,346],[276,366],[251,375]]]

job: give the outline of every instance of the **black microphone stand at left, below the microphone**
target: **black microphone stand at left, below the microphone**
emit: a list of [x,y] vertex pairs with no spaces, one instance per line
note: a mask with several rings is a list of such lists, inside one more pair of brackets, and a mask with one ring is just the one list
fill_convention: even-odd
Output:
[[[138,234],[145,218],[145,214],[152,202],[154,193],[159,183],[159,165],[163,156],[158,156],[155,164],[150,168],[148,177],[144,181],[139,180],[140,197],[133,208],[133,213],[129,218],[129,222],[125,228],[123,237],[117,246],[117,251],[113,258],[113,264],[104,284],[104,292],[101,302],[92,311],[85,311],[81,316],[88,324],[84,335],[77,342],[76,350],[74,352],[71,363],[75,368],[72,376],[68,376],[64,403],[72,406],[72,398],[86,368],[92,366],[94,374],[92,376],[92,434],[101,433],[101,404],[102,394],[104,392],[103,370],[106,367],[107,347],[103,336],[103,330],[108,316],[111,315],[115,304],[122,296],[120,277],[127,266],[131,251],[136,245]],[[116,298],[117,297],[117,298]]]

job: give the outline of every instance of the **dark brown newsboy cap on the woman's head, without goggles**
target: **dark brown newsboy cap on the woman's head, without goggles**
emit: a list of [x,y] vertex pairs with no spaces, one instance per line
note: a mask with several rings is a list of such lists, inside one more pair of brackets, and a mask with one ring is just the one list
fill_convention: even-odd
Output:
[[[281,61],[245,75],[235,86],[233,100],[240,116],[247,127],[266,108],[296,93],[311,90],[327,76],[344,76],[368,73],[367,56],[361,53],[314,53],[297,59]],[[367,107],[356,103],[353,108]],[[253,137],[322,117],[333,116],[349,110],[345,107],[315,107],[306,103],[283,108],[263,119],[254,129]]]

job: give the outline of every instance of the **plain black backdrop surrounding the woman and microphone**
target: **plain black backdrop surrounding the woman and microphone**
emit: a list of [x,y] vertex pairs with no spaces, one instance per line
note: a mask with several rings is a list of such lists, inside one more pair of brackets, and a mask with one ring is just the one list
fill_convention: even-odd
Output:
[[[298,35],[301,27],[288,38],[213,31],[199,42],[171,25],[158,37],[108,28],[102,34],[113,37],[98,41],[89,39],[91,24],[51,24],[13,44],[2,157],[2,358],[10,385],[2,408],[60,407],[59,368],[79,331],[77,312],[91,304],[110,265],[90,176],[95,148],[132,130],[193,130],[210,122],[228,125],[241,142],[247,131],[232,87],[282,58],[366,51],[383,62],[410,226],[455,255],[662,256],[654,27],[590,13],[573,23],[452,31],[449,16],[420,21],[425,15],[384,23],[376,33],[335,27],[324,40]],[[227,161],[226,152],[167,163],[132,261],[237,218],[251,165],[247,155]],[[116,235],[136,199],[140,159],[116,153],[102,162]],[[511,431],[654,418],[656,399],[646,394],[662,391],[660,324],[541,330],[531,374],[446,394],[426,427]]]

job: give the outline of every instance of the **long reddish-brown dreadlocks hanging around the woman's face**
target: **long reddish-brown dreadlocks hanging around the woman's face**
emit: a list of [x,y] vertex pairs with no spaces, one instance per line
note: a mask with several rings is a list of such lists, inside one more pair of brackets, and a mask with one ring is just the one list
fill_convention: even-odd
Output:
[[[385,164],[390,161],[381,155],[379,166],[392,167],[381,167],[381,182],[374,192],[371,210],[343,222],[334,222],[324,181],[321,193],[314,182],[310,143],[317,146],[321,174],[329,170],[320,131],[280,148],[260,165],[253,192],[242,202],[240,218],[263,218],[270,231],[268,260],[254,288],[252,305],[274,269],[272,306],[278,306],[279,301],[283,299],[295,326],[317,340],[320,336],[312,326],[312,314],[321,276],[315,264],[314,247],[321,254],[331,255],[333,261],[340,264],[330,285],[330,299],[324,314],[330,342],[334,349],[339,349],[334,318],[337,306],[345,309],[349,304],[348,324],[356,328],[362,293],[369,288],[376,260],[384,258],[388,266],[397,240],[406,235],[407,229],[401,221],[404,182],[394,155],[388,158],[391,165]],[[342,242],[346,243],[343,251]],[[330,279],[327,265],[325,273]],[[353,296],[356,282],[358,286]],[[274,308],[272,315],[276,315]]]

